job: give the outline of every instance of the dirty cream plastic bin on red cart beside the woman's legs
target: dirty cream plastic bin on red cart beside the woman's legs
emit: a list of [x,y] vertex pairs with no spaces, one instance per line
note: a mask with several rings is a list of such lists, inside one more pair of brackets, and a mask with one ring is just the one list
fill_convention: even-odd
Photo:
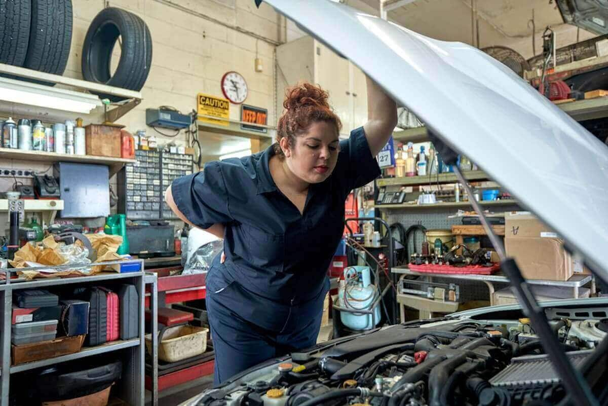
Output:
[[[159,331],[158,359],[178,362],[201,355],[207,351],[208,328],[181,325]],[[152,354],[152,335],[146,334],[146,347]]]

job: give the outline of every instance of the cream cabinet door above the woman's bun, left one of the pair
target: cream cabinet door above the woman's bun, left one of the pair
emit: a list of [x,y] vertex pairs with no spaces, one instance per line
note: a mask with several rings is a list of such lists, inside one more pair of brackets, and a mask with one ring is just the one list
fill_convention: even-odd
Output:
[[353,108],[349,87],[348,60],[339,57],[323,44],[315,41],[315,77],[322,89],[330,94],[329,103],[340,120],[342,134],[353,129]]

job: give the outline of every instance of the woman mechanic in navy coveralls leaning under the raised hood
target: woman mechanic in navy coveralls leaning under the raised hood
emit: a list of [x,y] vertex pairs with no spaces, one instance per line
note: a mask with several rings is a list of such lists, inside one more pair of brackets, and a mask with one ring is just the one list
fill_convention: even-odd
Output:
[[316,343],[344,201],[379,176],[375,156],[397,122],[395,102],[368,78],[369,120],[340,141],[327,99],[313,84],[289,88],[274,145],[209,162],[165,192],[179,218],[224,239],[206,281],[216,385]]

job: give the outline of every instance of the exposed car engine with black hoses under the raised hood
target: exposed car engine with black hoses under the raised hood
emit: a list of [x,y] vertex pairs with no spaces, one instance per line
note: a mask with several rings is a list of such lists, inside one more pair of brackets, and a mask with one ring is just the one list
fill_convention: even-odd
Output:
[[[608,319],[554,318],[575,367],[608,332]],[[565,391],[530,320],[443,319],[334,340],[249,370],[206,391],[198,406],[517,406],[558,404]]]

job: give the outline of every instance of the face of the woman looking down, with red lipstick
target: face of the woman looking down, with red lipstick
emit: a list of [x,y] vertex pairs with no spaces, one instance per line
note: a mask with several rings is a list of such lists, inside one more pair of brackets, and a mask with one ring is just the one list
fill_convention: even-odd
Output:
[[325,181],[338,159],[339,139],[336,127],[326,122],[315,122],[305,134],[295,137],[293,148],[286,138],[280,145],[291,172],[309,184]]

